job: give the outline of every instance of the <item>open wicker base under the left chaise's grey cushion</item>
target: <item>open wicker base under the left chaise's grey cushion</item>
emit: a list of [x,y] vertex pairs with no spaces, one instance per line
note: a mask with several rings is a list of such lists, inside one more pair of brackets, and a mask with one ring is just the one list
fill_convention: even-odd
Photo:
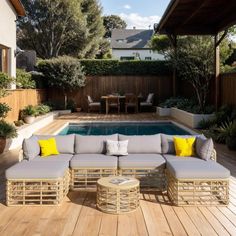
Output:
[[7,206],[59,205],[69,192],[69,170],[58,179],[8,179]]

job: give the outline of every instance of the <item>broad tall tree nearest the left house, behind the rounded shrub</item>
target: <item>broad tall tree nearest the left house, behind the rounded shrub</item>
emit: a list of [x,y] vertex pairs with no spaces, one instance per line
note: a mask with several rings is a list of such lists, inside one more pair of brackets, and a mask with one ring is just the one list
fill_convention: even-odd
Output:
[[82,0],[22,0],[27,18],[18,23],[18,45],[41,58],[60,55],[70,42],[83,41]]

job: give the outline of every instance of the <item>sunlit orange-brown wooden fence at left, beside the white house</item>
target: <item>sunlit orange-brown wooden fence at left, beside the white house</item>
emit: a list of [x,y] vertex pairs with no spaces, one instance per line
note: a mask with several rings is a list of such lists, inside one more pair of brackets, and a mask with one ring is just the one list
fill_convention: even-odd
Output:
[[38,105],[47,100],[47,91],[44,89],[17,89],[9,90],[9,95],[0,98],[0,103],[7,103],[11,111],[6,118],[13,122],[18,120],[20,110],[27,105]]

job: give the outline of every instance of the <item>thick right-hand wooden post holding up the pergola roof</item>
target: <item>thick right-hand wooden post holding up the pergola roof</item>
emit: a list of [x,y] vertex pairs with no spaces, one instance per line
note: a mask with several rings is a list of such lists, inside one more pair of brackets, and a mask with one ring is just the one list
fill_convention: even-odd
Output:
[[219,47],[219,35],[214,37],[214,51],[215,51],[215,107],[216,110],[219,107],[220,100],[220,47]]

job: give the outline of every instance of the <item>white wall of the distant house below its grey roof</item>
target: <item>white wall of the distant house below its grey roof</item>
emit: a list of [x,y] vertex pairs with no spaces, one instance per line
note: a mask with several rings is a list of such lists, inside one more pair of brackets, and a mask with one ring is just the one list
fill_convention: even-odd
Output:
[[120,59],[121,57],[133,57],[136,53],[139,53],[141,60],[145,60],[145,57],[151,57],[152,60],[164,60],[162,54],[156,53],[149,49],[112,49],[112,56],[115,59]]

